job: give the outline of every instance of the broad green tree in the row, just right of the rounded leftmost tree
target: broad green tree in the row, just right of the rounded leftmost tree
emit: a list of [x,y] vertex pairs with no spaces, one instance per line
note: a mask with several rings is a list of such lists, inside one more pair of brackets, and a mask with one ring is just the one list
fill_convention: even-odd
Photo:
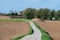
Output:
[[46,20],[47,19],[47,13],[49,12],[49,10],[50,9],[47,9],[47,8],[45,8],[45,9],[41,8],[41,9],[39,9],[37,17],[40,18],[40,19],[42,19],[42,20]]

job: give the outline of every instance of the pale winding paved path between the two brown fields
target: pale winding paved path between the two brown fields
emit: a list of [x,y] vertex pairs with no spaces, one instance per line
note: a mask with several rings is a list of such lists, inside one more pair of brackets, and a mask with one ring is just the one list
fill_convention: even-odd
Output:
[[36,26],[34,25],[34,23],[32,21],[28,21],[30,23],[30,26],[33,29],[33,34],[32,35],[27,35],[19,40],[41,40],[41,32],[38,28],[36,28]]

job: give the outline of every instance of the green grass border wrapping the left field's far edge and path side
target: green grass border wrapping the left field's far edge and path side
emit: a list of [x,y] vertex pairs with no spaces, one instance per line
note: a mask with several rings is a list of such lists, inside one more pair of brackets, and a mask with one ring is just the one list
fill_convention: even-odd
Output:
[[[4,19],[0,19],[0,22],[27,22],[27,21],[24,21],[24,20],[25,19],[5,19],[5,20]],[[30,35],[30,34],[33,33],[33,30],[31,28],[30,24],[29,24],[29,27],[30,27],[30,30],[29,30],[29,32],[26,35]],[[21,39],[22,37],[24,37],[26,35],[21,34],[21,35],[19,35],[17,37],[10,38],[10,40],[19,40],[19,39]]]

